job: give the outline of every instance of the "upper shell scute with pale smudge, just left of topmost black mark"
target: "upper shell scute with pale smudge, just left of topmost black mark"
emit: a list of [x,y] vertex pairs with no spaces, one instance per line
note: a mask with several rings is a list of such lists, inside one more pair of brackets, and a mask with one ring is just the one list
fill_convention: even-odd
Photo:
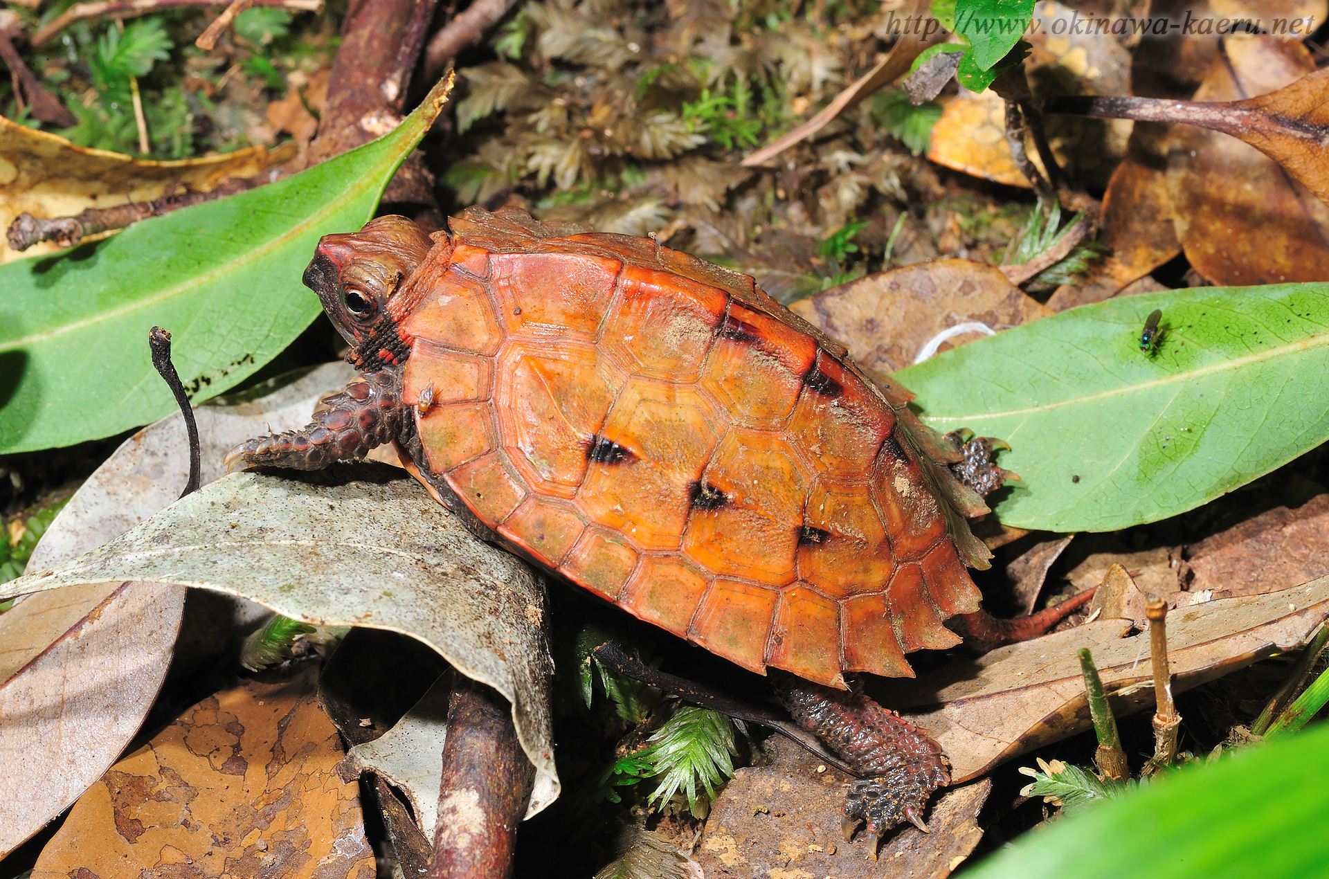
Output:
[[692,382],[727,305],[722,290],[627,265],[601,344],[634,372]]

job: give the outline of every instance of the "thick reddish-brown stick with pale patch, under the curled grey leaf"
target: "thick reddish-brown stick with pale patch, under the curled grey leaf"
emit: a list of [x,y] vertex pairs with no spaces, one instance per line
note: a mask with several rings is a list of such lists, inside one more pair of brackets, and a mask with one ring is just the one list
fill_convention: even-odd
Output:
[[459,674],[448,703],[431,879],[509,875],[534,781],[508,699]]

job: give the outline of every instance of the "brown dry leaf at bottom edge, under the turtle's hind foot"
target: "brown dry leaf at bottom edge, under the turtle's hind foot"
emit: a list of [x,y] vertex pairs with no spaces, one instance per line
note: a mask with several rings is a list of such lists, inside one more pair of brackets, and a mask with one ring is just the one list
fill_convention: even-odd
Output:
[[[776,735],[763,766],[738,770],[711,807],[696,848],[707,879],[945,879],[983,831],[978,813],[991,791],[983,779],[945,793],[926,815],[932,832],[905,827],[868,855],[864,834],[840,835],[849,777]],[[821,771],[817,771],[819,767]]]

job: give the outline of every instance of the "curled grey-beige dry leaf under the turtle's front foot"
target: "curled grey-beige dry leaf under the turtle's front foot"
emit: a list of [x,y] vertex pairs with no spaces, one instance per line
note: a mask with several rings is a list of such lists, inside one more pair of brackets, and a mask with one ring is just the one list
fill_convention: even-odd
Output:
[[314,625],[419,638],[512,702],[537,770],[528,815],[558,794],[542,581],[473,537],[399,469],[231,473],[81,559],[4,584],[0,594],[109,580],[215,589]]

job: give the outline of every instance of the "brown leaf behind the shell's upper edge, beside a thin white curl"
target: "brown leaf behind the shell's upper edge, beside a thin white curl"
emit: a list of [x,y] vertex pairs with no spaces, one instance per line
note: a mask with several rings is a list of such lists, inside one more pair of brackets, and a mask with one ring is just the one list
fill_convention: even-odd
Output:
[[[851,281],[789,306],[849,355],[877,372],[912,364],[937,334],[964,323],[1005,330],[1051,314],[994,266],[969,259],[938,259]],[[949,351],[982,338],[981,330],[946,339]]]

